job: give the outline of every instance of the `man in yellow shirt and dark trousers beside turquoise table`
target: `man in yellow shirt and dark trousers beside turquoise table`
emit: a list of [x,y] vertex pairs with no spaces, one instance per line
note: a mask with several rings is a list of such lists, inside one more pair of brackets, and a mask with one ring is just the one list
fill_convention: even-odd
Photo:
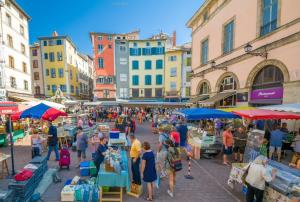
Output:
[[131,172],[132,172],[132,182],[137,185],[141,185],[141,173],[140,173],[140,163],[141,163],[141,154],[142,154],[142,145],[141,142],[131,134],[131,149],[130,149],[130,158],[131,158]]

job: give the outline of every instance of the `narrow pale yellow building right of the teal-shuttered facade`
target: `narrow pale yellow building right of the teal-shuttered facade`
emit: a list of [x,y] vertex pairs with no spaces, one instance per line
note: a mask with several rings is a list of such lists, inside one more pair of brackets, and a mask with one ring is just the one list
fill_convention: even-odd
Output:
[[180,48],[168,49],[165,53],[165,99],[179,101],[182,87],[182,53]]

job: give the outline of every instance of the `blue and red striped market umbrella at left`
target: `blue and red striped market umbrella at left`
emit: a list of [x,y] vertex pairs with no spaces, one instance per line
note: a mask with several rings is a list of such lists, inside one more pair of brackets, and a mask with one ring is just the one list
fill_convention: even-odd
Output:
[[50,120],[54,121],[59,116],[67,116],[68,114],[59,111],[55,108],[52,108],[48,105],[43,103],[28,108],[22,112],[18,112],[12,115],[12,120],[19,120],[23,118],[33,118],[33,119],[43,119],[43,120]]

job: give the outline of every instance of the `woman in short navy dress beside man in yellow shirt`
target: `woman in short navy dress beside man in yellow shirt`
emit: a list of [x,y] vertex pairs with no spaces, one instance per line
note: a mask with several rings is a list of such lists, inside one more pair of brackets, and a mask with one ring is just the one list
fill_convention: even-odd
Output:
[[142,157],[142,178],[144,182],[147,183],[148,196],[147,201],[153,200],[153,182],[157,179],[156,169],[155,169],[155,155],[151,150],[149,142],[143,143],[144,154]]

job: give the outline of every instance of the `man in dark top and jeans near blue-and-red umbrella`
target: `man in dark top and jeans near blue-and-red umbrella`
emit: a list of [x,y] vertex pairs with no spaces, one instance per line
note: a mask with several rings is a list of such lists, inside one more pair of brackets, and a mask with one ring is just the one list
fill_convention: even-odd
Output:
[[48,122],[49,131],[48,131],[48,155],[47,160],[50,159],[52,150],[55,152],[55,160],[59,161],[59,153],[58,153],[58,139],[57,139],[57,128],[52,124],[52,121]]

